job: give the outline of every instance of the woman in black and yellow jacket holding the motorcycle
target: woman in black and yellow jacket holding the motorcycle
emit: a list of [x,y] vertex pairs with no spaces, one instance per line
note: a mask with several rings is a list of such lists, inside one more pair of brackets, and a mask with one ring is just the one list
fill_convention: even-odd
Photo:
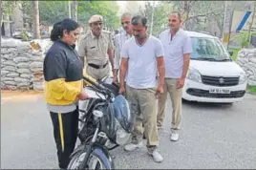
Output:
[[53,136],[59,168],[65,169],[75,149],[78,128],[78,99],[82,92],[83,66],[75,51],[80,26],[72,19],[53,25],[53,46],[44,59],[45,99],[53,121]]

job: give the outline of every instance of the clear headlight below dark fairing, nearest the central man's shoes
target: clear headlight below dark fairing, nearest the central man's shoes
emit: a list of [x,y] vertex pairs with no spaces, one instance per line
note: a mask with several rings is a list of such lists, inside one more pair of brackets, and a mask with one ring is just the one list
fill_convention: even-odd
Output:
[[129,140],[131,134],[127,133],[117,121],[117,136],[116,142],[118,145],[124,145]]

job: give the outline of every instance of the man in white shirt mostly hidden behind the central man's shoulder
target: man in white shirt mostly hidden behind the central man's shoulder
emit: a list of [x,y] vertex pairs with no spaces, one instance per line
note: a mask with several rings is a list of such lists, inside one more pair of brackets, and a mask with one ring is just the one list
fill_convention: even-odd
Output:
[[113,74],[113,82],[117,83],[118,78],[118,70],[120,66],[120,53],[121,48],[126,40],[132,37],[133,35],[133,28],[131,24],[132,14],[125,12],[121,15],[121,25],[123,30],[115,36],[115,60],[114,60],[114,74]]

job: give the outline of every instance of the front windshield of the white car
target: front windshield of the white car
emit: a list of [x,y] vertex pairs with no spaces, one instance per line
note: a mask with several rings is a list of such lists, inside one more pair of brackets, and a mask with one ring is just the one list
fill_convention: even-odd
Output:
[[230,55],[224,49],[222,42],[217,38],[191,37],[193,52],[191,59],[230,61]]

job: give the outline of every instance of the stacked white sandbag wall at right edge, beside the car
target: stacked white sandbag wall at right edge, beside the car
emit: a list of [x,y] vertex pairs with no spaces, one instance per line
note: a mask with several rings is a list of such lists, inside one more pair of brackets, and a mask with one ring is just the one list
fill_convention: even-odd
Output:
[[247,75],[248,85],[256,86],[256,49],[242,49],[236,62]]

